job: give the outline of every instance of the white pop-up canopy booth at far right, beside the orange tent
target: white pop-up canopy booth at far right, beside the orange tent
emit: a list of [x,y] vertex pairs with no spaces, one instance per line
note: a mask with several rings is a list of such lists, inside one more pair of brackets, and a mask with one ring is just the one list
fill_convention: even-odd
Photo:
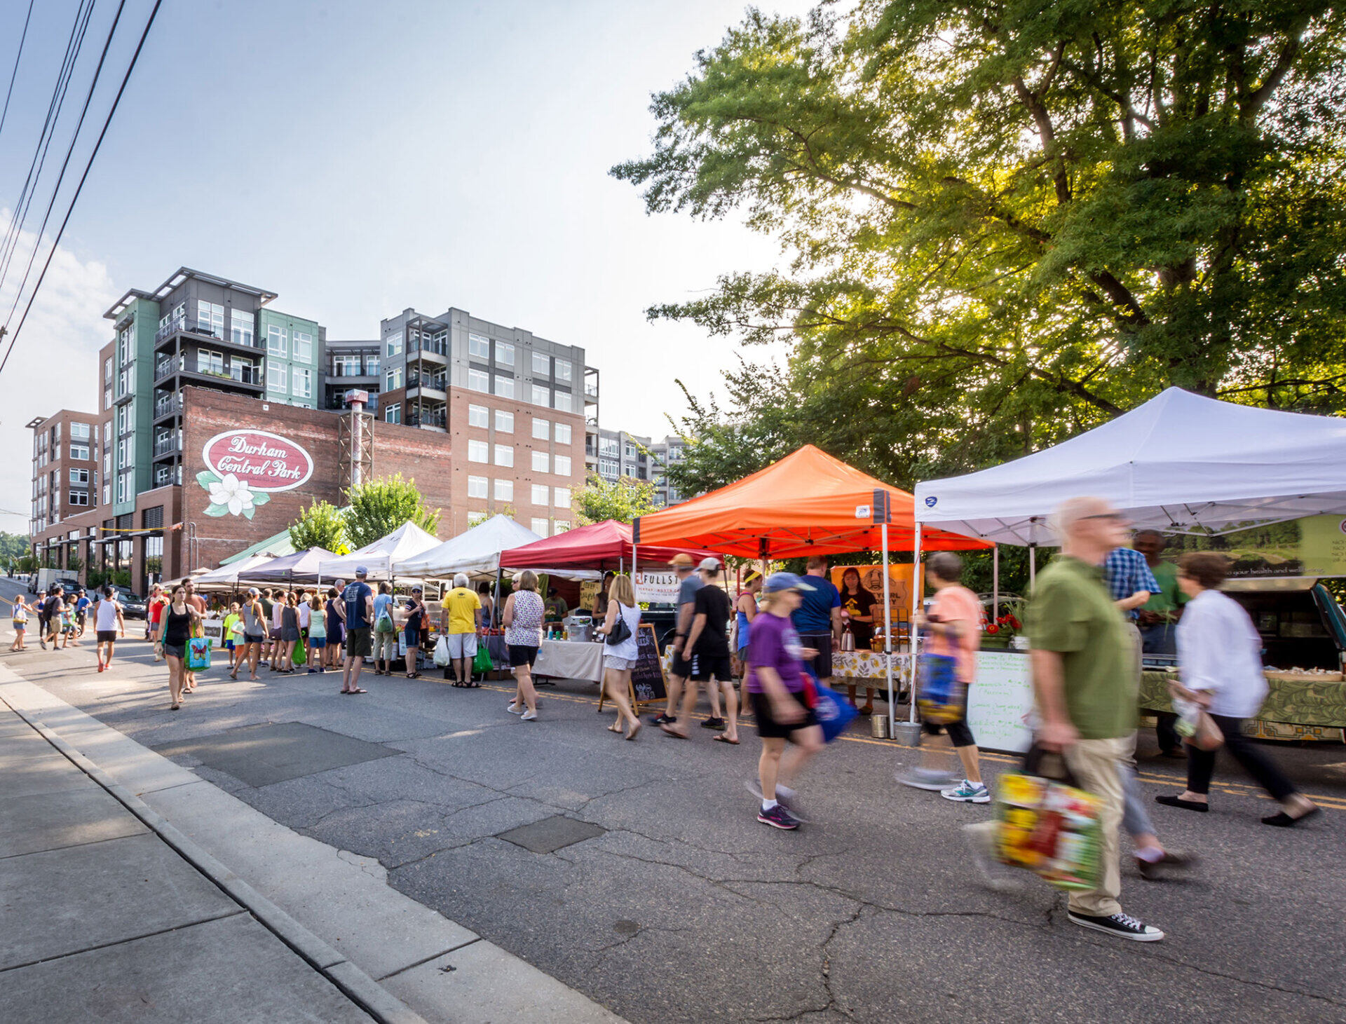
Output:
[[[1170,388],[1054,448],[921,483],[915,494],[921,533],[958,530],[1028,546],[1032,554],[1039,545],[1057,542],[1047,530],[1051,510],[1081,495],[1106,498],[1137,527],[1167,534],[1222,536],[1254,523],[1346,517],[1346,418],[1233,405]],[[1007,701],[1003,692],[1003,706],[980,713],[997,716],[1000,727],[1008,728],[1005,721],[1024,706],[1023,694],[1030,690],[1027,657],[999,657],[1020,658],[1020,698]],[[979,674],[969,697],[977,736],[981,727],[972,712],[980,682]],[[1289,719],[1284,725],[1346,727],[1339,670],[1311,680],[1268,673],[1268,684],[1272,693],[1263,716]],[[1167,709],[1162,685],[1162,677],[1145,681],[1141,706]],[[1027,724],[1016,732],[1019,743],[1012,748],[1026,748]]]

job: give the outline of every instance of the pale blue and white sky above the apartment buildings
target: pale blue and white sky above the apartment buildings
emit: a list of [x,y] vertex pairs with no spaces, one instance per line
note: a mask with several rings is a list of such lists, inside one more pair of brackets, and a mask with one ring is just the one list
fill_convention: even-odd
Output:
[[[77,3],[34,7],[0,129],[0,223],[19,198]],[[63,196],[151,7],[125,0]],[[0,0],[0,89],[26,9]],[[48,174],[114,11],[97,0]],[[452,305],[584,346],[602,371],[602,425],[669,433],[668,414],[685,409],[676,379],[705,397],[739,349],[695,324],[649,323],[645,309],[781,254],[738,219],[646,215],[639,190],[608,168],[651,152],[650,94],[685,77],[693,54],[743,12],[740,0],[164,0],[0,371],[0,441],[20,453],[0,463],[0,529],[27,532],[24,424],[94,408],[96,354],[112,336],[102,314],[179,266],[273,291],[275,308],[316,319],[332,339],[374,338],[381,318],[408,307]],[[0,318],[47,190],[0,287]],[[46,245],[32,279],[44,258]]]

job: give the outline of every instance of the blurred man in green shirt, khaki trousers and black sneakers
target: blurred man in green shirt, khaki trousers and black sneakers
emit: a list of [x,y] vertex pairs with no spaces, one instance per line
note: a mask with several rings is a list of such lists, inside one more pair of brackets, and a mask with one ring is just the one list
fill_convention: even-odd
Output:
[[1075,924],[1117,938],[1158,942],[1164,934],[1121,912],[1117,833],[1119,767],[1136,729],[1135,643],[1104,585],[1108,552],[1127,541],[1127,519],[1101,498],[1071,498],[1053,515],[1061,554],[1043,569],[1028,606],[1038,744],[1062,751],[1081,787],[1102,802],[1098,888],[1070,893]]

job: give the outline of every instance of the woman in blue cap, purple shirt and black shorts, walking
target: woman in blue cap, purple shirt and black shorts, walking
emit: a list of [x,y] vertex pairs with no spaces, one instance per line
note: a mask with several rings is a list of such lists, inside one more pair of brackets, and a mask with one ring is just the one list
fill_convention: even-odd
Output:
[[[800,607],[801,595],[812,589],[791,572],[769,576],[762,588],[762,614],[752,620],[748,642],[748,673],[743,685],[762,737],[758,821],[775,829],[800,828],[789,806],[794,790],[783,783],[793,780],[805,762],[822,749],[822,729],[813,715],[809,681],[804,675],[804,658],[812,658],[816,651],[800,643],[790,623],[790,612]],[[782,758],[786,740],[793,751]]]

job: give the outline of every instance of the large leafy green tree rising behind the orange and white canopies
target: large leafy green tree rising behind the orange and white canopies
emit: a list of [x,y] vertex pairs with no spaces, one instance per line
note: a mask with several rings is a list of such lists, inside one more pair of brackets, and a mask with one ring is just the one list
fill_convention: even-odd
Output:
[[650,309],[786,343],[692,405],[731,451],[678,488],[801,439],[910,487],[1170,385],[1346,409],[1343,30],[1312,0],[750,11],[612,170],[789,257]]

